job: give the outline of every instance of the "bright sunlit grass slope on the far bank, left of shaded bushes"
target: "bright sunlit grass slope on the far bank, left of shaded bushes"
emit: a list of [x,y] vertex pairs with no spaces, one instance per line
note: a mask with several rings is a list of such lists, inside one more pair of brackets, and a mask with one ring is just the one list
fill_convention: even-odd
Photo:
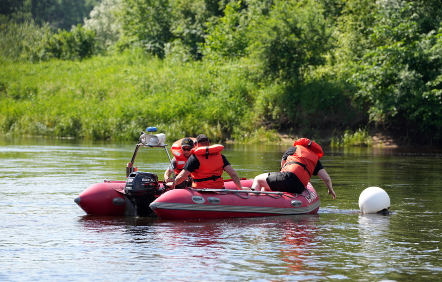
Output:
[[[127,140],[146,126],[172,139],[276,140],[253,123],[247,71],[148,59],[137,52],[82,62],[1,62],[2,135]],[[257,139],[256,139],[257,140]]]

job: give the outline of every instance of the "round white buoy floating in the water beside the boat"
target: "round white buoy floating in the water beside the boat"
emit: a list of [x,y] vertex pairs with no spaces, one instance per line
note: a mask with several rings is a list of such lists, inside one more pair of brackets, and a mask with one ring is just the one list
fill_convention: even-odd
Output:
[[359,209],[362,213],[375,213],[390,208],[390,197],[379,187],[369,187],[359,195]]

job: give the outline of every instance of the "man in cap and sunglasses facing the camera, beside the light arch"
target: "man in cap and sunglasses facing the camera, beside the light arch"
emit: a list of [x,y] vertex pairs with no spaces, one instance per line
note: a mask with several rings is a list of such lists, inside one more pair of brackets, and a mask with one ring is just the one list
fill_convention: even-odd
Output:
[[[174,155],[174,157],[172,158],[172,166],[174,169],[174,177],[176,177],[182,170],[184,165],[186,164],[187,160],[189,159],[189,157],[192,155],[191,153],[191,149],[193,148],[193,140],[195,140],[194,138],[183,138],[180,139],[178,141],[176,141],[172,147],[171,147],[171,151],[172,154]],[[170,175],[172,174],[172,171],[168,169],[166,169],[166,171],[164,172],[164,182],[168,183],[168,182],[173,182],[173,178],[170,178]],[[175,186],[175,188],[184,188],[186,186],[190,186],[191,185],[191,179],[187,178],[185,179],[185,181],[183,181],[179,187],[177,187],[177,185]]]

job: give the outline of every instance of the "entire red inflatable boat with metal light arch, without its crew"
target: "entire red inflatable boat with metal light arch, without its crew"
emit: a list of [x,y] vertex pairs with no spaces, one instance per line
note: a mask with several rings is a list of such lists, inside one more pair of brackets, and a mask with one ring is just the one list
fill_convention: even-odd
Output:
[[[319,210],[319,197],[311,183],[302,194],[237,190],[231,180],[225,180],[225,189],[165,189],[157,175],[133,167],[139,147],[163,147],[171,162],[164,134],[152,135],[156,128],[147,130],[149,134],[142,133],[126,166],[127,180],[89,186],[74,199],[83,211],[173,219],[306,214]],[[241,183],[251,187],[253,179],[241,179]]]

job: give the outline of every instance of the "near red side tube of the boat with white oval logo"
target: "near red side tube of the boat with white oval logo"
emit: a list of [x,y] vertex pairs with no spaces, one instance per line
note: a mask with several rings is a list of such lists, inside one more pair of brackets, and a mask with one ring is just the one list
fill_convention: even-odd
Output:
[[309,184],[301,195],[229,189],[175,189],[158,197],[150,208],[161,218],[209,218],[316,213],[319,205],[319,197]]

